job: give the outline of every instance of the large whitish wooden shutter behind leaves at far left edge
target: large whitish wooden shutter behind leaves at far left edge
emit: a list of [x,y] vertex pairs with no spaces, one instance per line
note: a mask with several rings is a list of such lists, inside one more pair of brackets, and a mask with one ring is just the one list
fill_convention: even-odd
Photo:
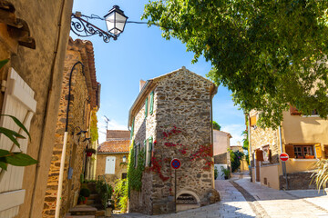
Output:
[[[19,74],[13,68],[10,68],[1,114],[14,115],[29,131],[31,119],[36,113],[34,94],[34,91]],[[11,118],[5,116],[1,116],[0,126],[26,136],[26,139],[18,139],[22,152],[26,153],[28,137],[25,132],[20,130]],[[11,150],[12,152],[20,151],[4,135],[0,136],[0,149]],[[22,189],[24,170],[25,167],[8,165],[7,171],[2,172],[4,174],[0,181],[0,217],[15,217],[19,205],[24,203],[25,190]]]

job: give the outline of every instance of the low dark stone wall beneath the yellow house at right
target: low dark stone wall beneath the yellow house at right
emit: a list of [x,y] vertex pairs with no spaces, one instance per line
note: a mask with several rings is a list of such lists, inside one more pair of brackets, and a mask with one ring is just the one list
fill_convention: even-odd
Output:
[[[288,190],[315,189],[315,183],[311,183],[313,172],[287,173]],[[286,178],[279,176],[280,189],[286,189]]]

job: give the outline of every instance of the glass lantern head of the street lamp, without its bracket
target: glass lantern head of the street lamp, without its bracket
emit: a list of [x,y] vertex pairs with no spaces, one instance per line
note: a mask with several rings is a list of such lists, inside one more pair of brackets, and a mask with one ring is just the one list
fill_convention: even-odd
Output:
[[123,11],[119,9],[118,5],[115,5],[109,11],[108,15],[105,15],[108,32],[113,35],[119,35],[122,33],[127,23],[127,19],[128,16],[124,15]]

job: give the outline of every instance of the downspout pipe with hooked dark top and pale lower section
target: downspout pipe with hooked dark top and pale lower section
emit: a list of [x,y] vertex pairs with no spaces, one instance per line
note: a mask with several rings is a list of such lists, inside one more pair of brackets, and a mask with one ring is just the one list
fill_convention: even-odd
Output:
[[63,190],[63,177],[64,177],[64,166],[65,166],[65,158],[66,158],[66,150],[67,150],[67,137],[68,137],[68,114],[69,114],[69,102],[70,102],[70,91],[71,91],[71,84],[72,84],[72,74],[77,66],[77,64],[81,64],[82,66],[82,74],[84,73],[84,65],[82,62],[78,61],[76,64],[73,65],[71,72],[69,74],[69,81],[68,81],[68,98],[67,98],[67,120],[65,126],[65,133],[64,133],[64,142],[63,142],[63,150],[60,159],[60,170],[59,170],[59,181],[58,181],[58,190],[56,196],[56,211],[55,211],[55,218],[59,218],[60,215],[60,205],[61,205],[61,194]]

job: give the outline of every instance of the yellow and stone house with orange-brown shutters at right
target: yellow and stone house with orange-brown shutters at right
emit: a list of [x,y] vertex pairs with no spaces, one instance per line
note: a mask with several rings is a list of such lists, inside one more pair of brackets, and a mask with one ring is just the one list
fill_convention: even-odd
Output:
[[[283,112],[282,124],[276,130],[257,126],[259,113],[249,114],[249,141],[251,178],[253,182],[274,189],[309,189],[313,163],[328,158],[328,121],[313,115],[304,116],[296,108]],[[281,153],[289,154],[286,177],[283,173]]]

